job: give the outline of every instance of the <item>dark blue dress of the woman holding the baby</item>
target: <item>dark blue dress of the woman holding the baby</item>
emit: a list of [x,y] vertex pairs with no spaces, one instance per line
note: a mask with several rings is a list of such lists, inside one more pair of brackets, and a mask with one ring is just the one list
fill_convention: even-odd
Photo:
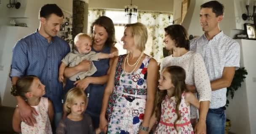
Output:
[[[111,48],[109,46],[105,46],[101,51],[95,51],[92,47],[92,51],[96,53],[101,52],[110,54],[110,50]],[[97,68],[97,72],[95,72],[92,77],[107,75],[109,59],[100,59],[99,61],[93,61],[93,63]],[[86,93],[89,93],[88,106],[85,113],[88,113],[91,116],[94,128],[99,127],[99,115],[101,112],[102,98],[106,84],[89,84],[88,88],[85,90]]]

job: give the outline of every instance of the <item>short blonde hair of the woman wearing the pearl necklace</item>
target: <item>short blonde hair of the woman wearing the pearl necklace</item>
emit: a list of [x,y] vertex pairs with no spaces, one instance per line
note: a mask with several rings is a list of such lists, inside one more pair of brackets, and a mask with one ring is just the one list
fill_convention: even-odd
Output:
[[125,27],[131,27],[132,30],[132,36],[134,38],[134,43],[137,46],[137,48],[140,51],[145,50],[145,45],[147,43],[147,28],[145,25],[142,23],[132,23],[132,24],[127,24]]

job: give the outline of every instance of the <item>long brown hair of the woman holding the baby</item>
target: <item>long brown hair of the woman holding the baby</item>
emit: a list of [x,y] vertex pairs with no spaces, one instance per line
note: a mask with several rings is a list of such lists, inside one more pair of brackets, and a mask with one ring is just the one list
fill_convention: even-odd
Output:
[[113,21],[110,18],[108,18],[107,16],[100,16],[92,23],[91,35],[92,35],[93,42],[94,42],[94,38],[93,38],[92,33],[93,33],[94,25],[99,25],[106,29],[108,37],[107,37],[107,41],[106,41],[105,45],[114,46],[115,43],[117,43],[117,41],[115,40],[115,26],[114,26]]

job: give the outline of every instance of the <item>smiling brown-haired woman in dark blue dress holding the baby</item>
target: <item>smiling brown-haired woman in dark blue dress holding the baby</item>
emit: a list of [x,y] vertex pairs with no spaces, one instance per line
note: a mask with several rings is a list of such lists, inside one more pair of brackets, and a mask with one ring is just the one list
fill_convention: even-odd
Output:
[[[101,16],[96,19],[92,23],[91,33],[93,38],[92,51],[108,54],[118,51],[114,46],[116,43],[115,27],[110,18]],[[88,106],[85,113],[91,116],[94,128],[99,127],[101,103],[112,62],[113,59],[93,61],[97,72],[90,77],[75,82],[77,87],[85,89],[85,92],[88,93]],[[66,68],[64,74],[66,77],[71,77],[77,72],[87,71],[90,64],[88,61],[81,62],[75,67]]]

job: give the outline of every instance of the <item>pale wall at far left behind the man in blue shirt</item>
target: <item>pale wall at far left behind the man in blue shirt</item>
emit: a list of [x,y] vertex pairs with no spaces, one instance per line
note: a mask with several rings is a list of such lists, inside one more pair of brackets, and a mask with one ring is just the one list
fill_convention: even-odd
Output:
[[[73,0],[19,0],[20,9],[7,8],[9,0],[1,0],[0,4],[0,98],[2,105],[15,106],[15,98],[10,95],[11,82],[8,74],[11,65],[12,48],[16,41],[39,27],[38,13],[40,8],[48,3],[56,3],[64,12],[72,14]],[[2,19],[5,18],[5,19]],[[17,23],[27,23],[27,28],[9,27],[8,23],[15,17]]]

